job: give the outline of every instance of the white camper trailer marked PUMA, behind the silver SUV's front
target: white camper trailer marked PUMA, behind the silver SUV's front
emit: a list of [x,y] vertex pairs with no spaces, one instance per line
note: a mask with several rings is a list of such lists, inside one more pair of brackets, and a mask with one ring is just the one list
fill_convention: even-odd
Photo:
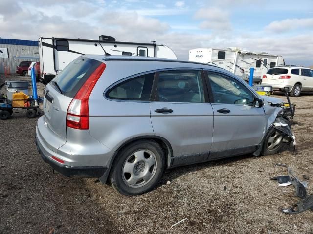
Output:
[[284,59],[280,55],[243,51],[237,47],[192,49],[189,50],[189,61],[214,64],[246,81],[250,76],[250,67],[254,67],[253,82],[257,83],[262,81],[263,75],[269,68],[285,65]]

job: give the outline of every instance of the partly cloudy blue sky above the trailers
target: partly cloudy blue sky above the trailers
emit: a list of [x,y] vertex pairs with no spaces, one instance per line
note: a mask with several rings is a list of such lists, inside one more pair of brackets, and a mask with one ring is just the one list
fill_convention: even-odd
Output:
[[156,40],[179,59],[192,48],[238,46],[309,66],[313,0],[0,0],[1,38],[99,35]]

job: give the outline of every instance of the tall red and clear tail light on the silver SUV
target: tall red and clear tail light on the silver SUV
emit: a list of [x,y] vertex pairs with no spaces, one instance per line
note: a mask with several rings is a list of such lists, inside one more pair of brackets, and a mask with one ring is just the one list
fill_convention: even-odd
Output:
[[89,96],[106,65],[101,63],[78,90],[67,109],[67,127],[74,129],[89,129]]

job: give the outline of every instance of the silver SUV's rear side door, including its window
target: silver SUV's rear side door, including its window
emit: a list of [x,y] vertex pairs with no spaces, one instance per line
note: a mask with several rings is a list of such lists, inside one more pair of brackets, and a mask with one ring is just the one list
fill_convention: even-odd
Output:
[[204,86],[201,70],[156,73],[150,104],[152,126],[156,136],[170,142],[175,165],[187,163],[186,158],[190,163],[204,161],[210,151],[213,111]]

